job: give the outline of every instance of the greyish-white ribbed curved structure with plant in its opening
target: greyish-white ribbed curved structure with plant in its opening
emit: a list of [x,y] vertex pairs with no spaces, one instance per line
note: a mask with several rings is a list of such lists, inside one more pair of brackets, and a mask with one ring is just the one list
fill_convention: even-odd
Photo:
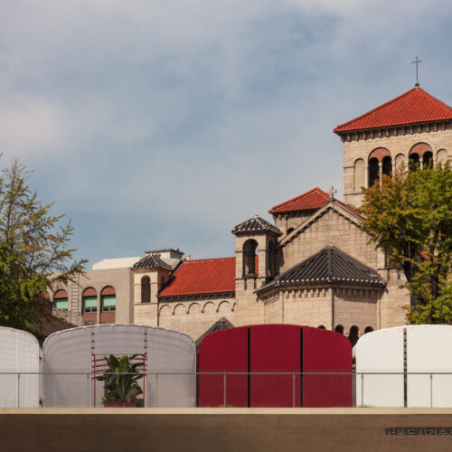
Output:
[[49,336],[43,346],[44,405],[101,406],[103,382],[91,373],[94,363],[104,364],[110,354],[144,353],[147,374],[139,383],[146,385],[146,407],[195,406],[192,338],[141,325],[83,326]]

